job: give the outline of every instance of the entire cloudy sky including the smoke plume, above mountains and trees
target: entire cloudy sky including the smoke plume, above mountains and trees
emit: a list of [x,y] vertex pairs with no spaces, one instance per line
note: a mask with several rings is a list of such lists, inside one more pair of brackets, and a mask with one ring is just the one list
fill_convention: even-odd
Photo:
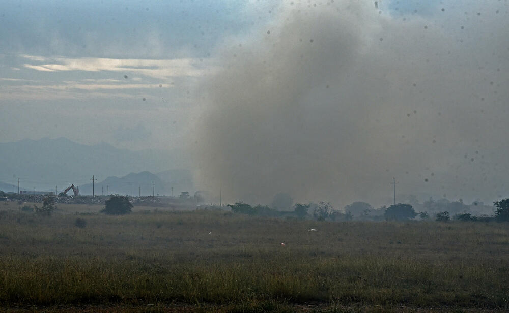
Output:
[[180,149],[225,199],[507,196],[508,4],[0,3],[3,142]]

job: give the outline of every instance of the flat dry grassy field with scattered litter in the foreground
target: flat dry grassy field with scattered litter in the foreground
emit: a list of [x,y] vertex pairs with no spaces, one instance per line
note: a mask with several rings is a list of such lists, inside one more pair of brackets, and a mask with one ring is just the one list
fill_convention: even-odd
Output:
[[509,310],[507,223],[18,207],[0,206],[0,311]]

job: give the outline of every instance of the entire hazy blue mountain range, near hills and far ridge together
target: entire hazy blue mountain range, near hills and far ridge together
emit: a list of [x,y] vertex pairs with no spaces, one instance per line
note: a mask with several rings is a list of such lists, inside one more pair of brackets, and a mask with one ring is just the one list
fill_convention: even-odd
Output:
[[113,188],[110,193],[137,195],[139,185],[143,184],[142,194],[152,195],[153,182],[158,189],[156,194],[169,194],[172,186],[174,193],[192,192],[189,170],[167,170],[178,168],[176,155],[163,150],[118,149],[106,143],[89,146],[64,137],[0,143],[0,181],[4,182],[0,190],[12,192],[14,185],[17,192],[19,177],[21,190],[36,187],[38,191],[54,191],[56,186],[61,192],[74,184],[81,194],[92,194],[90,180],[94,174],[95,184],[99,185],[97,194],[105,184],[104,193],[109,185]]

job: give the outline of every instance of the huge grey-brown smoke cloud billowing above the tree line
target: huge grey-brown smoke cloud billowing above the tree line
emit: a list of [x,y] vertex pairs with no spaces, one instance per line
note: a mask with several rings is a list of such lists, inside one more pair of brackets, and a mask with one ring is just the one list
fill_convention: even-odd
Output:
[[287,192],[387,204],[393,176],[398,194],[505,196],[507,3],[430,6],[295,1],[261,13],[267,24],[225,41],[221,70],[197,87],[198,184],[261,203]]

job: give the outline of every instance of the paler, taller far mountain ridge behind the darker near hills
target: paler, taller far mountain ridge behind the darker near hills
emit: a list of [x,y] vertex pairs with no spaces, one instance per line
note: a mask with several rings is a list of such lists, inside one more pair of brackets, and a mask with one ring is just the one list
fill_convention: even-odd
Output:
[[[62,191],[73,183],[84,193],[82,185],[91,182],[92,174],[98,183],[112,175],[156,173],[175,167],[172,153],[162,150],[131,151],[106,143],[89,146],[63,137],[0,143],[0,181],[16,185],[16,191],[18,177],[21,185],[38,190],[54,190],[58,185]],[[12,191],[12,186],[5,191]]]

